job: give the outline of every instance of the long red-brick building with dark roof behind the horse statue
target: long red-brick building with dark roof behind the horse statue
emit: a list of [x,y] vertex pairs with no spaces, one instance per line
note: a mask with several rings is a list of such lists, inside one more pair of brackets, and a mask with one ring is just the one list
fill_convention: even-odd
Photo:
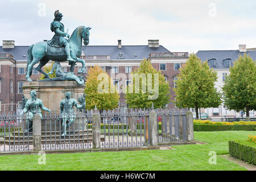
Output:
[[[0,113],[16,111],[22,104],[22,86],[27,81],[27,50],[29,46],[15,46],[13,40],[3,40],[0,46]],[[160,69],[170,84],[171,99],[169,108],[173,108],[175,100],[172,88],[175,86],[175,77],[179,68],[188,59],[188,52],[170,52],[159,45],[159,40],[148,40],[144,46],[123,46],[118,40],[116,46],[83,46],[81,58],[85,59],[85,73],[90,67],[99,65],[104,69],[114,83],[120,87],[119,82],[129,83],[130,72],[139,67],[141,60],[150,59],[154,68]],[[48,64],[50,64],[49,62]],[[32,80],[39,79],[39,72],[36,71],[36,64],[32,71]],[[63,71],[68,71],[68,62],[61,63]],[[81,64],[77,63],[74,72],[77,74]],[[126,76],[125,80],[119,78],[119,73]],[[123,93],[120,94],[120,105],[125,105]]]

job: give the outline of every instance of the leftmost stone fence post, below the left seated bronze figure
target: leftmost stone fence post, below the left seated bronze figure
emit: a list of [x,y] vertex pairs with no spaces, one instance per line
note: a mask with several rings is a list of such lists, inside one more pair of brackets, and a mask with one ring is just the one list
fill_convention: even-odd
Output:
[[42,149],[41,133],[41,117],[40,114],[35,114],[33,117],[33,150]]

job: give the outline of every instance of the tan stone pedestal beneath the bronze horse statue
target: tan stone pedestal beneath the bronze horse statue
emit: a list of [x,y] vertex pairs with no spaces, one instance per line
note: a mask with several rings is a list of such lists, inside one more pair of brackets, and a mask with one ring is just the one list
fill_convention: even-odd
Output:
[[[76,81],[32,81],[24,82],[22,89],[23,94],[27,99],[31,98],[30,91],[35,90],[36,98],[40,98],[40,100],[43,101],[44,106],[51,109],[52,114],[55,112],[56,114],[59,114],[60,101],[65,98],[65,92],[71,92],[71,98],[75,98],[76,101],[79,102],[78,98],[84,95],[85,85],[79,85]],[[76,111],[75,106],[73,109]],[[43,110],[42,112],[43,114],[45,113]],[[62,130],[62,125],[60,125],[61,123],[59,123],[59,121],[53,121],[55,119],[51,120],[51,126],[49,125],[49,121],[42,121],[42,131],[49,131],[50,128],[54,131],[54,122],[56,122],[56,130],[59,131],[60,127]],[[74,122],[74,126],[71,126],[71,129],[73,129],[73,127],[75,127],[75,130],[81,130],[82,119],[77,118]],[[84,119],[84,129],[86,129],[86,119]]]

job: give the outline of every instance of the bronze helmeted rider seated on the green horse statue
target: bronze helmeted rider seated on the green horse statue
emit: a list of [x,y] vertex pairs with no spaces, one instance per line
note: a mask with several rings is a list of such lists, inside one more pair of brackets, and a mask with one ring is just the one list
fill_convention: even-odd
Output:
[[51,31],[55,32],[55,35],[53,36],[52,40],[50,40],[49,44],[52,46],[65,46],[65,51],[67,53],[67,61],[74,61],[71,57],[71,52],[70,52],[70,45],[68,40],[64,38],[64,36],[69,35],[64,32],[64,24],[60,23],[60,20],[62,19],[62,14],[59,12],[59,10],[55,11],[54,13],[55,19],[51,23]]

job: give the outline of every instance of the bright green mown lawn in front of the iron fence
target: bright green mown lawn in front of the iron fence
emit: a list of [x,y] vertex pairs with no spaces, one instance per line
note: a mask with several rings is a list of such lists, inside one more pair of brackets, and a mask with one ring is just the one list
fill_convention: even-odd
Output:
[[[46,164],[38,155],[0,156],[2,170],[246,170],[222,159],[228,141],[247,139],[256,131],[195,132],[195,139],[209,144],[172,146],[176,150],[47,154]],[[209,164],[209,151],[217,153],[217,164]]]

